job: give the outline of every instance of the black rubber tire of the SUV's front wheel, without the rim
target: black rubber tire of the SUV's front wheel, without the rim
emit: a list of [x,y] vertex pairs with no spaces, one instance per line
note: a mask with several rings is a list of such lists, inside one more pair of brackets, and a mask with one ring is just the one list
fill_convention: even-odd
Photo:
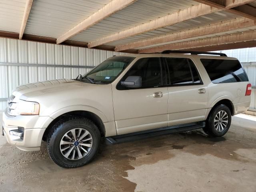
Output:
[[[92,147],[86,156],[77,160],[70,160],[60,151],[60,142],[64,134],[74,128],[82,128],[90,132],[92,137]],[[57,122],[50,130],[47,138],[47,150],[50,158],[58,166],[64,168],[76,168],[88,164],[97,154],[100,147],[100,131],[98,127],[89,119],[77,116],[70,116],[65,120]]]

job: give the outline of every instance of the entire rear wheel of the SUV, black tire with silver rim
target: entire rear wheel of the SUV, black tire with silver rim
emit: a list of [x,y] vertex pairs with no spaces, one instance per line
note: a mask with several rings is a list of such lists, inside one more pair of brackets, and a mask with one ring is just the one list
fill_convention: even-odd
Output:
[[210,136],[221,137],[228,132],[231,124],[231,112],[230,109],[221,104],[213,108],[206,120],[206,127],[204,132]]

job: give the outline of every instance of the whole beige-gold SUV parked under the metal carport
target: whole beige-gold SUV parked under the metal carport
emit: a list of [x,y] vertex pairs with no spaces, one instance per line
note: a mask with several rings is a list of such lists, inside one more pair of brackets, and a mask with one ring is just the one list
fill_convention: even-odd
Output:
[[199,128],[223,136],[250,93],[240,62],[225,54],[114,56],[73,80],[16,88],[3,134],[21,150],[40,150],[46,140],[52,160],[73,168],[94,158],[103,137],[117,143]]

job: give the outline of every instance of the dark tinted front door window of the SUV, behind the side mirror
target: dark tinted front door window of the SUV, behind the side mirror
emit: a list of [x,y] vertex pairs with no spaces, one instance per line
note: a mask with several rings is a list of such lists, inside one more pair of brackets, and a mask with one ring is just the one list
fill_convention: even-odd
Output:
[[125,80],[128,76],[141,76],[141,88],[157,87],[162,84],[161,74],[159,57],[142,58],[130,68],[123,79]]

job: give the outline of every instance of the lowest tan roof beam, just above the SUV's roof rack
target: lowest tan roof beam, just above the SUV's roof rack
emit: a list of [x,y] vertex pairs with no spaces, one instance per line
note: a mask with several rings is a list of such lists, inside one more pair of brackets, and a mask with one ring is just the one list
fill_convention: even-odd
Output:
[[214,38],[206,38],[202,40],[194,40],[194,41],[185,41],[180,43],[174,43],[154,48],[142,49],[139,50],[139,53],[154,53],[154,52],[162,52],[164,50],[182,50],[182,49],[192,49],[192,48],[200,48],[204,46],[217,46],[223,44],[232,44],[238,42],[246,42],[246,41],[255,41],[256,40],[256,31],[244,32],[239,34],[225,35]]

